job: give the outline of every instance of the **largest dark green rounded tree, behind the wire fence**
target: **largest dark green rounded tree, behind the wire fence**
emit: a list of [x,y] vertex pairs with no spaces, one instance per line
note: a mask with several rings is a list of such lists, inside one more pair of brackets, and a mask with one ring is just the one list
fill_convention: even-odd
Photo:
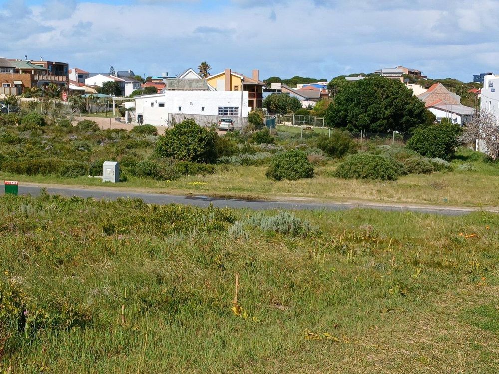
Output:
[[397,80],[371,76],[345,85],[325,115],[329,127],[386,133],[429,122],[424,103]]

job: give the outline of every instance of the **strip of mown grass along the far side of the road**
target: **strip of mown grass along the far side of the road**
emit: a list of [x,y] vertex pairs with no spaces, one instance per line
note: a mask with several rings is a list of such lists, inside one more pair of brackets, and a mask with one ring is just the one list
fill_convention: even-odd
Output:
[[[453,172],[411,174],[397,181],[343,180],[332,176],[339,164],[328,161],[315,169],[313,179],[271,181],[266,166],[219,165],[215,174],[188,176],[175,181],[154,181],[130,177],[127,182],[107,187],[135,188],[163,193],[199,193],[247,198],[305,197],[320,201],[378,201],[448,206],[499,206],[499,166],[485,163],[481,155],[461,149]],[[469,170],[459,170],[467,165]],[[102,186],[96,178],[21,176],[0,172],[0,178],[25,182]]]

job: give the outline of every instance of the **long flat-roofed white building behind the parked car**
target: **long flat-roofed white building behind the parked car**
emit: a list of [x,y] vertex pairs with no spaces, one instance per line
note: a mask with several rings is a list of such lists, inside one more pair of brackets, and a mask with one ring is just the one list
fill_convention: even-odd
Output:
[[168,126],[174,114],[248,117],[248,91],[165,91],[135,97],[137,117],[143,123]]

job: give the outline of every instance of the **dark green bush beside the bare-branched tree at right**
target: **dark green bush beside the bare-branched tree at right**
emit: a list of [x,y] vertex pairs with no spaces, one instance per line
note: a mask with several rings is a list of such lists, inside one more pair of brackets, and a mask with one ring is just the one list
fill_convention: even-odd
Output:
[[418,129],[407,142],[407,148],[428,158],[449,160],[458,146],[458,125],[432,125]]

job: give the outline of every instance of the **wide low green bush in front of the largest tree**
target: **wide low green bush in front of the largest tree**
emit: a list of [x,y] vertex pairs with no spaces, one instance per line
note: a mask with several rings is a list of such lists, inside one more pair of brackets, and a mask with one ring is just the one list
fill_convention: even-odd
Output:
[[404,166],[392,158],[370,153],[358,153],[347,156],[334,172],[334,176],[345,179],[394,181],[402,174],[403,170]]

